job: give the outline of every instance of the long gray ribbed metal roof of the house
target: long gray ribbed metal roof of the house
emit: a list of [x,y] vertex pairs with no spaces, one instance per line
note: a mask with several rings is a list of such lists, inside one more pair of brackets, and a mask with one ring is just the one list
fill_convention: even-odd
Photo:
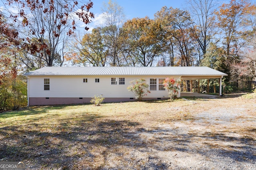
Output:
[[227,76],[209,67],[44,67],[24,76],[56,75],[170,75],[170,76]]

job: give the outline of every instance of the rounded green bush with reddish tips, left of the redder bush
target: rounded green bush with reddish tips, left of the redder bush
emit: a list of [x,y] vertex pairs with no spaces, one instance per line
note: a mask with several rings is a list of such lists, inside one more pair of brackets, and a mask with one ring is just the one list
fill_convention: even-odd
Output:
[[135,98],[140,102],[143,96],[147,95],[146,93],[150,93],[150,90],[148,90],[149,85],[144,79],[133,80],[130,84],[127,89],[132,91],[135,94]]

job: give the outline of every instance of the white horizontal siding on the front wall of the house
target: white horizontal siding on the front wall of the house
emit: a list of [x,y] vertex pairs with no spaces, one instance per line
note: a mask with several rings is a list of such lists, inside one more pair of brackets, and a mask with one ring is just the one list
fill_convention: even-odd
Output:
[[[104,98],[135,98],[131,91],[127,90],[130,81],[143,78],[149,80],[151,76],[122,76],[127,82],[124,85],[113,86],[110,83],[112,76],[98,76],[99,82],[95,83],[95,76],[87,76],[87,83],[81,81],[84,76],[48,76],[50,90],[44,90],[38,84],[44,84],[43,76],[29,76],[28,94],[31,98],[91,98],[94,95],[102,95]],[[120,78],[122,78],[120,77]],[[166,78],[163,76],[160,78]],[[176,77],[178,78],[178,77]],[[168,98],[166,91],[152,91],[144,98]]]

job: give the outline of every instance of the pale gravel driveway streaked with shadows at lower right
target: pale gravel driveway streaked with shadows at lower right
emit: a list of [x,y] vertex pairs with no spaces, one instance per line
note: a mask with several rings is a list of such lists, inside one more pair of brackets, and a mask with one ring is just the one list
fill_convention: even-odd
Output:
[[256,170],[256,104],[212,107],[213,104],[214,101],[209,103],[207,111],[200,105],[198,111],[191,113],[192,120],[130,131],[134,141],[127,143],[129,153],[121,160],[126,166],[114,164],[116,168],[108,168]]

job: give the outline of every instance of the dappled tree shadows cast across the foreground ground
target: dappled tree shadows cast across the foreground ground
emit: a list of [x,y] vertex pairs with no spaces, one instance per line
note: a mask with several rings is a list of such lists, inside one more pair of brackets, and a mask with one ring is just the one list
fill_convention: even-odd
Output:
[[[137,121],[116,121],[95,114],[77,120],[62,119],[51,127],[36,122],[28,123],[27,127],[7,126],[0,129],[0,135],[0,160],[25,161],[32,170],[168,169],[170,163],[161,162],[156,156],[158,151],[202,154],[208,158],[216,154],[220,159],[256,162],[252,138],[228,137],[222,133],[177,134],[172,129],[146,130]],[[190,149],[196,145],[195,139],[205,141],[205,148]],[[223,141],[241,148],[212,144]]]

